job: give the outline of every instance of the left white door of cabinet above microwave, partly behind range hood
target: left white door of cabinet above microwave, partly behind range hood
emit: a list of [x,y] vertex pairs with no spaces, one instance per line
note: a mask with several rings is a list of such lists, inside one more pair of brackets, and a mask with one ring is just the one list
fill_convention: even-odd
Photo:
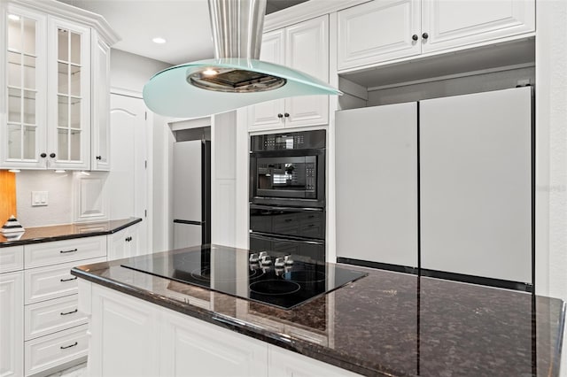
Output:
[[[268,63],[283,65],[283,48],[284,33],[283,29],[266,33],[262,37],[262,48],[260,51],[260,60]],[[283,99],[276,99],[261,104],[254,104],[248,107],[248,129],[257,131],[262,129],[282,128],[283,117]]]

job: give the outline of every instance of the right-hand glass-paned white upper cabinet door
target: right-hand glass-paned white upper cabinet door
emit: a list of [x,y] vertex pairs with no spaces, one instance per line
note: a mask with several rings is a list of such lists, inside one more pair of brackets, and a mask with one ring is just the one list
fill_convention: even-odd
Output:
[[90,166],[90,29],[49,19],[50,168]]

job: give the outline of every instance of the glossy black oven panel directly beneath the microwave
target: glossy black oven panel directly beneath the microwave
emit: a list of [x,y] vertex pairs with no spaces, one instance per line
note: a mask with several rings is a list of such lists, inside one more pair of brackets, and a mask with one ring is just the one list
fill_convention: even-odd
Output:
[[320,208],[277,207],[250,204],[252,232],[325,239],[325,212]]

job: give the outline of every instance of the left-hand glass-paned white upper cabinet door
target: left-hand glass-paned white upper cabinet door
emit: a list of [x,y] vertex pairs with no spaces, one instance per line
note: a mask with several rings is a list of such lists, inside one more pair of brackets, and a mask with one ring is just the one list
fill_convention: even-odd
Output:
[[[0,167],[43,168],[46,161],[46,17],[10,6],[3,13]],[[2,35],[4,34],[4,35]]]

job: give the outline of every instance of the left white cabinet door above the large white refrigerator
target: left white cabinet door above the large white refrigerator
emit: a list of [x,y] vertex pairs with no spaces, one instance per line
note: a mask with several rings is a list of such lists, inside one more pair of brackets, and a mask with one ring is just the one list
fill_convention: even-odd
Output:
[[338,12],[338,70],[421,53],[420,6],[421,0],[371,1]]

